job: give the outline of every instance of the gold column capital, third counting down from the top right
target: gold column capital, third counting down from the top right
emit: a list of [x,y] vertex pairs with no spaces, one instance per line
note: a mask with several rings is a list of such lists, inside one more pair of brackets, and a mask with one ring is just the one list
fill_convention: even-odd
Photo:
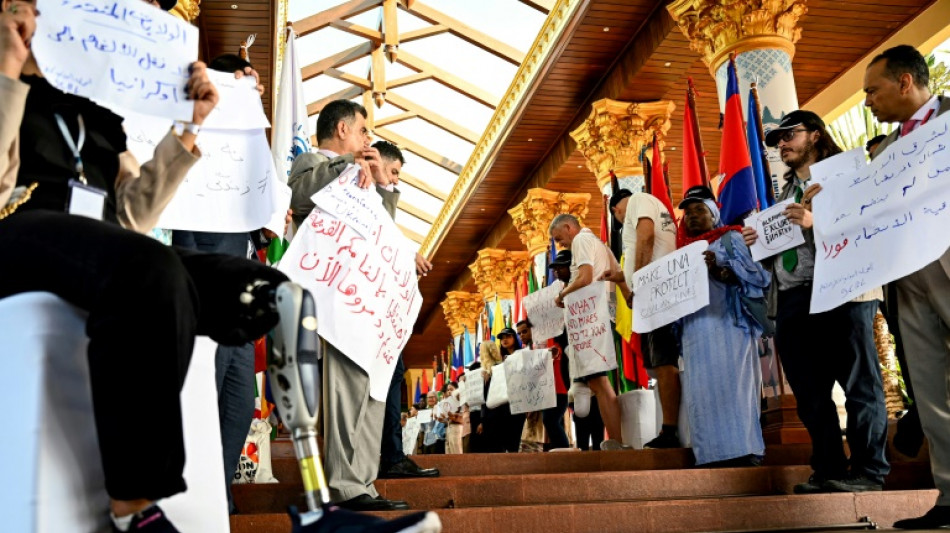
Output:
[[548,226],[560,213],[570,213],[583,223],[587,216],[589,193],[563,193],[548,189],[528,189],[520,204],[508,210],[521,242],[534,257],[548,248]]

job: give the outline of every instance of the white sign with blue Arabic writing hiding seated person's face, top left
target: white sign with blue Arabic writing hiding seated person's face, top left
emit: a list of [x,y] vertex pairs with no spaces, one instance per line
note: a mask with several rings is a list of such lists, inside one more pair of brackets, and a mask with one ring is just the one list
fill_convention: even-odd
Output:
[[141,0],[39,0],[32,50],[61,91],[190,121],[198,28]]

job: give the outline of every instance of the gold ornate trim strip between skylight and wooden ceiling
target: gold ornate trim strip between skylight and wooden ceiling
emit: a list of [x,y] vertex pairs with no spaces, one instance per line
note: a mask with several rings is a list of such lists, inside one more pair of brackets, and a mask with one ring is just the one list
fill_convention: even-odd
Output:
[[555,43],[581,3],[582,0],[558,0],[554,8],[551,9],[544,25],[541,26],[541,30],[538,32],[537,38],[534,40],[534,44],[525,55],[525,59],[518,68],[514,79],[512,79],[511,85],[508,86],[508,91],[495,109],[488,127],[485,128],[485,132],[482,133],[478,144],[475,145],[475,149],[472,151],[472,155],[468,158],[462,173],[452,187],[452,192],[449,193],[448,199],[442,205],[435,223],[432,224],[432,228],[422,242],[419,253],[423,256],[428,258],[433,256],[435,250],[442,244],[448,229],[458,219],[462,207],[484,179],[483,170],[490,154],[494,151],[495,146],[503,140],[503,134],[508,130],[518,105],[533,85],[535,78],[553,51]]

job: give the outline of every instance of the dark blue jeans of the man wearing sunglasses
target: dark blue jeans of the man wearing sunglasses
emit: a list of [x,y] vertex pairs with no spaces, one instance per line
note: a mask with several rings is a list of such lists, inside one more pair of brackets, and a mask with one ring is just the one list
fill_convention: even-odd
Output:
[[831,399],[837,381],[846,398],[850,472],[883,482],[890,465],[884,458],[887,409],[873,334],[878,302],[848,302],[814,315],[808,313],[810,303],[811,286],[779,291],[775,347],[811,436],[811,466],[824,479],[848,474]]

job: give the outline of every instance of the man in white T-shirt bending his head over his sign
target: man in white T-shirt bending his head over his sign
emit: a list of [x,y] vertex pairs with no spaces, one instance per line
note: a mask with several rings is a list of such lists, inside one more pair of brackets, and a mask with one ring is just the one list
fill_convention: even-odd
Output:
[[[578,368],[596,369],[593,372],[581,371],[580,376],[572,376],[574,378],[575,402],[577,397],[585,392],[589,395],[590,391],[593,391],[597,395],[597,405],[600,408],[601,417],[604,419],[604,425],[607,426],[607,433],[610,435],[610,439],[601,443],[601,449],[619,449],[621,446],[620,403],[617,400],[617,394],[610,385],[610,380],[607,378],[608,372],[617,368],[617,357],[614,351],[612,333],[610,333],[613,331],[613,327],[611,326],[611,317],[607,312],[607,287],[610,284],[594,284],[597,287],[596,294],[594,294],[593,288],[588,289],[602,272],[616,267],[617,261],[610,250],[607,249],[607,246],[590,229],[581,229],[580,222],[574,215],[567,213],[557,215],[551,221],[548,232],[551,234],[551,238],[554,239],[555,244],[562,248],[570,248],[572,255],[571,282],[554,298],[558,306],[567,308],[565,310],[565,321],[567,322],[568,335],[571,335],[572,321],[575,330],[596,330],[600,333],[599,335],[589,335],[589,338],[583,340],[582,343],[586,346],[580,349],[576,345],[574,347],[575,357],[578,358]],[[584,291],[583,297],[574,296],[569,300],[565,300],[571,294],[582,290]],[[587,321],[587,324],[580,324],[582,320]],[[593,337],[605,338],[602,331],[604,327],[606,327],[607,333],[611,335],[610,342],[599,346],[600,353],[598,353],[592,344]],[[575,331],[574,338],[570,340],[571,344],[573,345],[575,341],[581,340],[580,336],[580,332]],[[602,363],[600,360],[602,360]]]

